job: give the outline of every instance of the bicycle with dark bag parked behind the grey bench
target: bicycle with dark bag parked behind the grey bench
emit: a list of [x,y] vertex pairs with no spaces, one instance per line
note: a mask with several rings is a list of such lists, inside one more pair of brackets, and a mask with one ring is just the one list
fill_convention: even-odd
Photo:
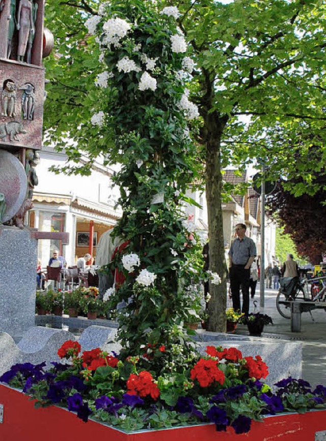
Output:
[[[283,277],[280,279],[280,289],[276,297],[276,308],[284,318],[291,318],[291,304],[289,301],[324,301],[326,298],[326,277],[300,280],[297,277]],[[317,290],[308,289],[308,282],[321,282],[322,288]],[[311,311],[309,311],[311,314]]]

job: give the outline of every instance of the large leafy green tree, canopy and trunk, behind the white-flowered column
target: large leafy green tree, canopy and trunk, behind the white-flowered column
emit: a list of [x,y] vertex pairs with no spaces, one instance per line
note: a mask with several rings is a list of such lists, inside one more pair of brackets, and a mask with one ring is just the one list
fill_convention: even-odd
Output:
[[[88,123],[98,99],[92,83],[101,68],[99,52],[91,38],[85,40],[82,23],[96,14],[98,3],[67,0],[47,7],[60,57],[48,64],[46,126],[56,128],[51,137],[57,141],[69,132],[78,149],[88,152],[88,169],[108,148],[107,139],[92,139]],[[224,330],[222,167],[229,162],[243,166],[258,157],[273,163],[277,173],[279,146],[273,143],[273,131],[289,121],[320,127],[325,120],[324,5],[308,0],[182,0],[177,6],[179,25],[197,63],[192,93],[203,120],[198,141],[205,162],[210,266],[222,277],[222,284],[210,289],[208,328]],[[69,157],[78,161],[80,150],[70,149]]]

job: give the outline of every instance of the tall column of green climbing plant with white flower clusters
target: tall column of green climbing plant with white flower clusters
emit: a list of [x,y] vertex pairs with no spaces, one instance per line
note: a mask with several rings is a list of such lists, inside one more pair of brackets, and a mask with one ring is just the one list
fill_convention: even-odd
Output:
[[121,164],[113,179],[124,213],[114,234],[127,242],[111,264],[124,280],[108,302],[112,310],[124,305],[118,332],[131,353],[145,341],[165,344],[182,328],[194,309],[184,287],[199,281],[203,266],[195,225],[181,207],[198,167],[188,124],[196,130],[199,113],[186,89],[195,64],[177,7],[159,5],[113,0],[87,22],[103,62],[91,124],[99,144],[114,139],[106,158]]

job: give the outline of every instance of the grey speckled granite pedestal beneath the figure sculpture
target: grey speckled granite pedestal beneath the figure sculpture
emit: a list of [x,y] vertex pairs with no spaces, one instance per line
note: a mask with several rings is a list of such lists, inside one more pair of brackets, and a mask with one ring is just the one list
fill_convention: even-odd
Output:
[[0,225],[0,331],[15,340],[35,321],[37,239]]

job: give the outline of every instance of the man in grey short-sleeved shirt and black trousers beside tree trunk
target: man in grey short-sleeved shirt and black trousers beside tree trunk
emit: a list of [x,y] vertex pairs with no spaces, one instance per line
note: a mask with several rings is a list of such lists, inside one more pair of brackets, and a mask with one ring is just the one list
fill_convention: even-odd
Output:
[[242,290],[242,313],[249,314],[249,281],[250,266],[257,251],[255,242],[246,236],[247,227],[244,224],[235,226],[236,238],[229,251],[229,273],[233,309],[240,311],[240,286]]

